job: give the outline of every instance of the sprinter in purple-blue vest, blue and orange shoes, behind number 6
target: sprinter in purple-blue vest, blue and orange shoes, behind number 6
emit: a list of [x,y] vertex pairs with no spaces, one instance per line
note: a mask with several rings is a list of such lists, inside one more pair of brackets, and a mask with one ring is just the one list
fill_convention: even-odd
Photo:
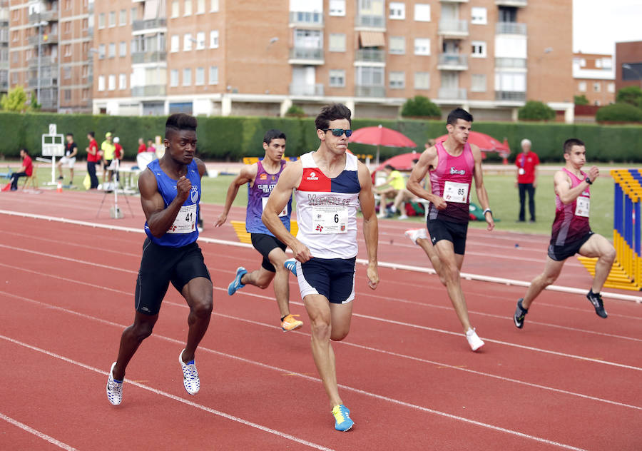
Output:
[[[240,266],[236,270],[236,277],[228,286],[228,295],[233,295],[236,290],[243,288],[248,283],[265,290],[274,280],[274,295],[279,306],[281,328],[284,332],[288,332],[300,328],[303,322],[295,318],[299,315],[290,314],[290,285],[287,283],[290,272],[284,266],[285,260],[287,260],[285,244],[275,238],[261,221],[267,197],[270,196],[283,168],[285,168],[286,162],[281,159],[285,153],[285,133],[274,129],[268,130],[263,136],[263,149],[265,150],[263,160],[243,166],[238,176],[230,183],[223,213],[220,213],[214,226],[223,226],[238,193],[238,188],[243,183],[248,183],[245,230],[250,233],[254,248],[263,255],[263,263],[259,269],[253,270],[251,273]],[[291,214],[292,196],[290,194],[287,206],[279,213],[280,220],[288,231],[290,230]]]

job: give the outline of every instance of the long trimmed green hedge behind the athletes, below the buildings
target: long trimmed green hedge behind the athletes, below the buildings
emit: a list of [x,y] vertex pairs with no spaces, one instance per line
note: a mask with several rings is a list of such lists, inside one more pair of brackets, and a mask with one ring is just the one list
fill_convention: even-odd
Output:
[[[91,116],[54,113],[0,112],[0,157],[16,158],[19,148],[39,153],[41,134],[48,131],[49,123],[58,125],[58,133],[71,131],[83,156],[87,146],[87,131],[96,131],[98,143],[104,133],[111,131],[121,138],[125,156],[133,159],[138,151],[138,137],[163,136],[163,116]],[[356,118],[352,128],[367,126],[393,128],[417,143],[417,148],[380,148],[382,160],[397,153],[423,151],[429,138],[446,133],[444,121],[417,119]],[[263,153],[263,134],[268,128],[278,128],[287,136],[287,155],[299,156],[319,145],[313,118],[268,117],[198,117],[198,152],[208,160],[239,161],[243,156]],[[488,133],[499,141],[508,139],[511,158],[519,153],[519,142],[529,138],[542,161],[562,161],[562,144],[567,138],[586,142],[589,161],[640,162],[642,161],[642,126],[597,125],[541,122],[474,122],[473,129]],[[354,153],[374,155],[376,148],[365,144],[350,144]],[[491,158],[493,160],[494,158]]]

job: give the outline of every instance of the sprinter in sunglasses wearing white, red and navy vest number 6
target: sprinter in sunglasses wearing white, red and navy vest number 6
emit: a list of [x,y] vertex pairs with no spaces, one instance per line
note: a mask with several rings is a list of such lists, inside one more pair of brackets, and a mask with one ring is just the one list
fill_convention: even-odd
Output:
[[[335,354],[330,340],[343,340],[350,331],[355,298],[357,209],[363,213],[363,235],[368,252],[368,285],[374,290],[377,273],[377,214],[370,171],[347,154],[350,109],[340,103],[321,108],[315,119],[321,144],[305,153],[281,174],[263,208],[263,223],[290,246],[296,262],[301,297],[312,329],[312,356],[330,398],[335,429],[355,423],[337,387]],[[297,237],[288,233],[279,214],[297,188]]]

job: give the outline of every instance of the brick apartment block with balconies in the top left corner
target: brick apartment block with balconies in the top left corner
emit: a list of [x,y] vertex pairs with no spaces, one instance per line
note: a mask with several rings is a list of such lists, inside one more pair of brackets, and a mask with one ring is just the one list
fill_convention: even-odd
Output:
[[9,88],[24,86],[43,111],[91,111],[93,0],[4,3],[9,9]]

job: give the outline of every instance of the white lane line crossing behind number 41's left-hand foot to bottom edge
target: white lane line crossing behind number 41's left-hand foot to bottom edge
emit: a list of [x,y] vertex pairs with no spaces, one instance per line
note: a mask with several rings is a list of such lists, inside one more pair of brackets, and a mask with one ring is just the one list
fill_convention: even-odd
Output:
[[[53,358],[57,358],[59,360],[63,360],[63,362],[71,363],[72,365],[79,366],[79,367],[84,368],[86,370],[91,370],[94,373],[98,373],[98,374],[105,375],[105,376],[108,375],[108,372],[103,371],[103,370],[99,370],[98,368],[95,368],[95,367],[93,367],[91,365],[86,365],[84,363],[78,362],[77,360],[73,360],[71,358],[64,357],[63,355],[52,353],[51,351],[48,351],[48,350],[45,350],[45,349],[42,349],[42,348],[38,348],[36,346],[29,345],[27,343],[23,343],[23,342],[21,342],[19,340],[14,340],[14,338],[6,337],[5,335],[0,335],[0,338],[2,338],[3,340],[9,341],[11,343],[14,343],[16,345],[20,345],[20,346],[22,346],[24,348],[31,349],[31,350],[37,351],[39,353],[43,353],[45,355],[49,355],[49,357],[53,357]],[[240,423],[242,425],[245,425],[245,426],[254,427],[255,429],[262,430],[263,432],[267,432],[267,433],[272,434],[272,435],[276,435],[277,437],[285,438],[286,440],[291,440],[292,442],[300,443],[302,445],[314,448],[315,450],[332,451],[331,448],[327,448],[327,447],[324,447],[324,446],[321,446],[321,445],[317,445],[316,443],[308,442],[307,440],[303,440],[303,439],[301,439],[299,437],[295,437],[294,435],[290,435],[290,434],[287,434],[285,432],[281,432],[281,431],[272,429],[270,427],[259,425],[258,423],[251,422],[251,421],[248,421],[248,420],[244,420],[243,418],[240,418],[240,417],[235,417],[234,415],[230,415],[228,413],[221,412],[220,410],[215,410],[215,409],[213,409],[211,407],[207,407],[205,405],[198,404],[197,402],[192,402],[192,401],[189,401],[189,400],[185,400],[184,398],[182,398],[180,396],[172,395],[171,393],[163,392],[163,390],[158,390],[158,389],[156,389],[154,387],[150,387],[149,385],[141,384],[141,382],[128,380],[127,383],[131,384],[131,385],[135,385],[136,387],[142,388],[143,390],[148,390],[149,392],[152,392],[152,393],[154,393],[156,395],[161,395],[161,396],[164,396],[164,397],[168,397],[171,400],[175,400],[175,401],[178,401],[178,402],[183,402],[183,404],[189,405],[190,407],[196,407],[197,409],[204,410],[205,412],[209,412],[209,413],[212,413],[212,414],[217,415],[219,417],[223,417],[223,418],[225,418],[227,420],[232,420],[232,421],[238,422],[238,423]],[[47,437],[49,437],[49,436],[47,436]],[[52,439],[52,440],[55,440],[55,439]],[[64,444],[62,444],[62,445],[64,445]],[[73,448],[71,448],[71,447],[64,448],[64,449],[73,450]]]

